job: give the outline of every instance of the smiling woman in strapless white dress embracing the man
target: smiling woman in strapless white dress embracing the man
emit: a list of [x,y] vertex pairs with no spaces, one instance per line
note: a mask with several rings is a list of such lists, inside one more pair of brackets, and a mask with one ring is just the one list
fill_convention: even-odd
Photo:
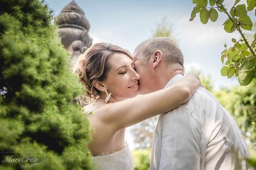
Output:
[[[133,156],[124,142],[125,128],[170,111],[189,100],[200,79],[189,74],[170,88],[136,97],[139,75],[134,58],[123,48],[96,43],[75,64],[90,97],[84,107],[94,128],[89,149],[99,169],[132,169]],[[136,97],[136,98],[134,98]]]

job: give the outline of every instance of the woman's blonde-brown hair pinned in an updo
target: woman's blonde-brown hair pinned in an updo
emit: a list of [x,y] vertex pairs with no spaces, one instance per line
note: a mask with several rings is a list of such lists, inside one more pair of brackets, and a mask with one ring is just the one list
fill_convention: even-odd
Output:
[[73,72],[86,86],[86,96],[90,98],[90,101],[102,97],[102,92],[94,87],[93,82],[104,81],[107,78],[110,69],[108,58],[114,53],[126,54],[134,60],[132,54],[127,50],[109,43],[95,43],[78,57]]

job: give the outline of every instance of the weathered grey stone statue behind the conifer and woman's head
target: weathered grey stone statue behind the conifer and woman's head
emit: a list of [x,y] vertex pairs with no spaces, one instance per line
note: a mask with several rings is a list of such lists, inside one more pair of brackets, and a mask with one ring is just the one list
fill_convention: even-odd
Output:
[[71,55],[72,67],[78,54],[91,46],[93,39],[88,35],[90,24],[83,9],[74,0],[62,9],[57,24],[61,43]]

